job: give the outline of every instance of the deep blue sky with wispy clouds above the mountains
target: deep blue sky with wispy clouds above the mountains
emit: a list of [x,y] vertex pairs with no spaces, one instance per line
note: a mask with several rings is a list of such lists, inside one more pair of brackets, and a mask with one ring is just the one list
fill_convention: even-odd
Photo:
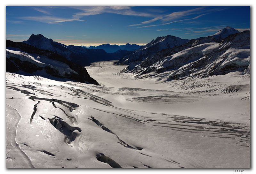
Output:
[[6,39],[43,34],[66,45],[195,39],[225,26],[250,29],[250,6],[6,6]]

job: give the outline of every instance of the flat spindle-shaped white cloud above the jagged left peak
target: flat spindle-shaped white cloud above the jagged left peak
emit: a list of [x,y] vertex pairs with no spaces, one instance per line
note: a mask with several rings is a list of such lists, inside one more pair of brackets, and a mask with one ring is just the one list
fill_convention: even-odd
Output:
[[79,19],[59,18],[54,16],[27,16],[27,17],[19,17],[19,19],[34,20],[37,22],[44,22],[48,24],[56,24],[56,23],[67,22],[67,21],[86,21],[86,20],[79,20]]

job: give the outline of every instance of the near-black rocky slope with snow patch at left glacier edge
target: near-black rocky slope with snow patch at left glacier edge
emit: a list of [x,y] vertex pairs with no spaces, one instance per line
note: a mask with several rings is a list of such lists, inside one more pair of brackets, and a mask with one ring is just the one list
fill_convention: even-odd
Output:
[[52,51],[9,40],[6,40],[6,72],[25,72],[46,78],[51,75],[63,80],[69,79],[99,85],[83,66]]

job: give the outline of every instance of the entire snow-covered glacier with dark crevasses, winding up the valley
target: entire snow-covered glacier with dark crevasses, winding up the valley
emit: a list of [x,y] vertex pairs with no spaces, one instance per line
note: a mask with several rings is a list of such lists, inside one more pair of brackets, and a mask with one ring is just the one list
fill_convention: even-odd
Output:
[[[6,73],[6,168],[250,168],[250,74],[100,86]],[[161,78],[161,74],[159,74]]]

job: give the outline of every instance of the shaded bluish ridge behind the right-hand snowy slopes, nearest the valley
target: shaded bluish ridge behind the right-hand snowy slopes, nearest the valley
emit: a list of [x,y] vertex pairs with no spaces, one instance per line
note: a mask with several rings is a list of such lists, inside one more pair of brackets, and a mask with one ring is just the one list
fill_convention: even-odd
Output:
[[134,66],[138,65],[148,56],[155,54],[162,49],[172,48],[178,45],[187,43],[188,39],[181,39],[179,37],[167,35],[164,37],[157,37],[156,40],[152,40],[147,45],[135,50],[132,54],[127,55],[120,59],[117,64],[131,64],[129,70],[132,70]]

